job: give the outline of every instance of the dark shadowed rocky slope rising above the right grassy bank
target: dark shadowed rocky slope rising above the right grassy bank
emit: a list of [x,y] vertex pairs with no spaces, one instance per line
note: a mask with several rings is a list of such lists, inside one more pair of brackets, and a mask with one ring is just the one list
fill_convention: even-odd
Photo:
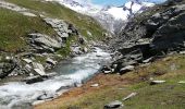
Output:
[[[172,0],[156,5],[131,20],[120,35],[111,40],[122,57],[114,61],[113,71],[153,60],[156,56],[185,49],[185,2]],[[120,72],[121,74],[123,72]]]

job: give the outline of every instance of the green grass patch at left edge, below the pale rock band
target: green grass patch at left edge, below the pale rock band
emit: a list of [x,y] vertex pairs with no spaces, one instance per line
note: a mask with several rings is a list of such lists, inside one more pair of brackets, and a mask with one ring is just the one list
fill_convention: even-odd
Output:
[[29,17],[7,9],[0,9],[0,50],[17,52],[25,49],[25,38],[32,32],[55,35],[53,29],[39,17]]

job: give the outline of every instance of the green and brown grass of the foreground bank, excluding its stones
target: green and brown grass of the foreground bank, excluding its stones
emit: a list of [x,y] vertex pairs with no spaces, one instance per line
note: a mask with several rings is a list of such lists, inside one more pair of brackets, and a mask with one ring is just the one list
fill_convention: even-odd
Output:
[[[172,65],[175,65],[175,69]],[[100,85],[103,82],[111,83],[109,80],[118,80],[119,75],[104,76],[107,76],[106,80],[100,78]],[[145,81],[141,80],[144,77]],[[149,85],[149,77],[166,82]],[[137,93],[135,97],[122,101],[125,109],[185,109],[185,84],[178,83],[185,81],[185,56],[158,60],[149,66],[138,68],[136,71],[122,75],[119,80],[119,83],[115,81],[113,85],[110,84],[90,93],[86,92],[83,96],[72,98],[70,101],[60,104],[58,100],[55,107],[60,107],[57,109],[102,109],[110,101],[122,101],[131,93]],[[130,80],[128,84],[124,84],[126,80]]]

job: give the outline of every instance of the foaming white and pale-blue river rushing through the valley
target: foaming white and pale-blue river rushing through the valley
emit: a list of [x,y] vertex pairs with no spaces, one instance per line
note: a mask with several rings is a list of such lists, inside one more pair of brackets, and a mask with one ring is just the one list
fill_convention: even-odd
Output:
[[109,53],[95,48],[92,52],[60,62],[53,70],[57,75],[47,81],[5,83],[0,86],[0,109],[28,109],[38,98],[57,97],[91,77],[110,59]]

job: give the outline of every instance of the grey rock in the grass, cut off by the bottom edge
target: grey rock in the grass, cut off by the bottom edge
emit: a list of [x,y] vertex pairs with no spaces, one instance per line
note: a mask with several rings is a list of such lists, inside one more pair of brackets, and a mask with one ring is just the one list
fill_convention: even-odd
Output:
[[124,105],[121,101],[115,100],[106,105],[103,109],[123,109],[123,107]]

